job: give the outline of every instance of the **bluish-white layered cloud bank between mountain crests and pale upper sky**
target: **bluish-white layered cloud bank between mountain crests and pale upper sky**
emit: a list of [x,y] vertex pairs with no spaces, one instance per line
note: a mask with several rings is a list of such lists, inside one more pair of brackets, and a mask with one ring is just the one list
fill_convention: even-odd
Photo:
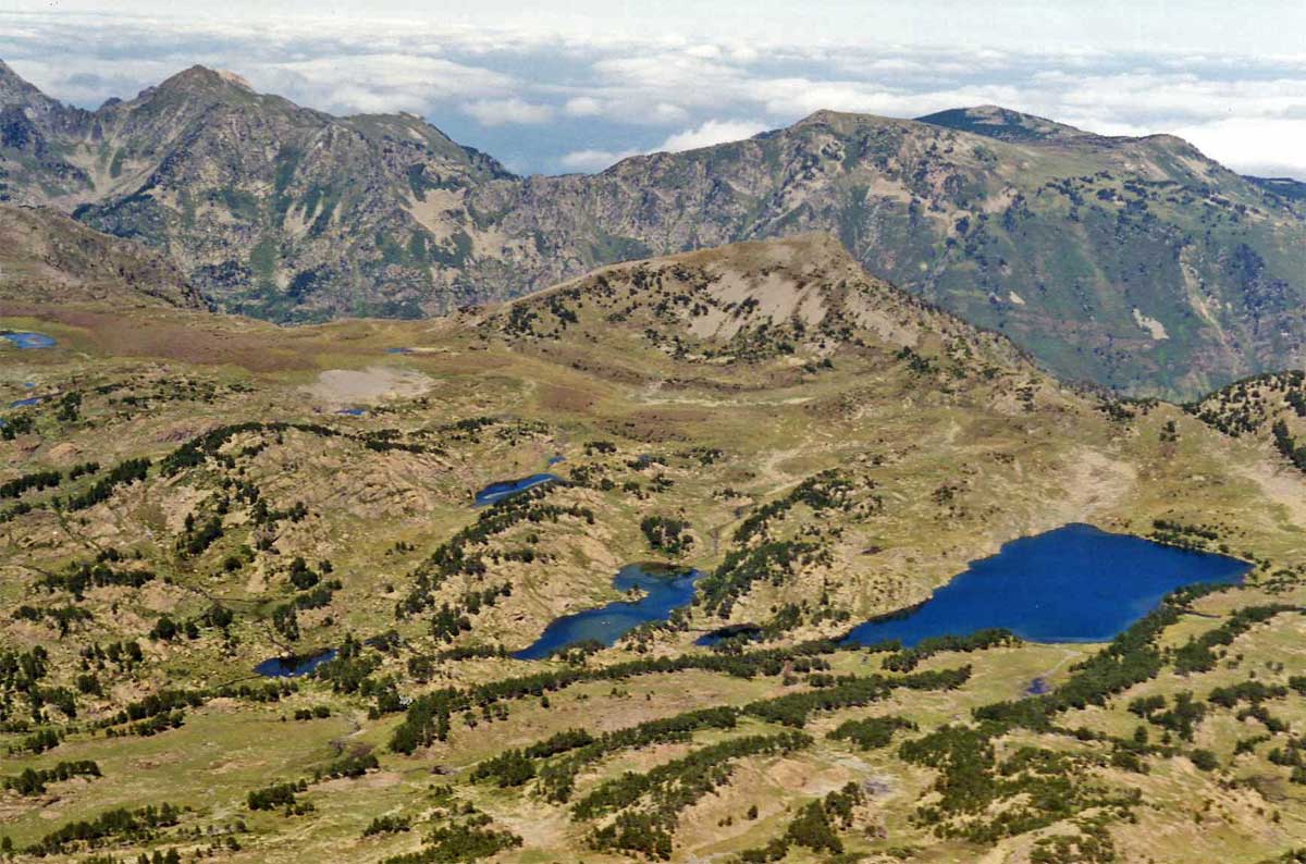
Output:
[[0,14],[0,59],[94,107],[195,63],[334,114],[410,111],[518,172],[746,138],[821,110],[995,103],[1107,134],[1168,132],[1306,180],[1306,52],[994,50],[556,33],[411,21]]

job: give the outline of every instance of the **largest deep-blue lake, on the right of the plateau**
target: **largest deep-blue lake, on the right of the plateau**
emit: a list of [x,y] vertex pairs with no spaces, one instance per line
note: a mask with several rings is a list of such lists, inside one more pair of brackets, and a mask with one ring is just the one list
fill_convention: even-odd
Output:
[[850,642],[966,636],[1007,628],[1030,642],[1106,642],[1194,582],[1239,582],[1245,561],[1188,552],[1091,525],[1012,540],[912,609],[854,628]]

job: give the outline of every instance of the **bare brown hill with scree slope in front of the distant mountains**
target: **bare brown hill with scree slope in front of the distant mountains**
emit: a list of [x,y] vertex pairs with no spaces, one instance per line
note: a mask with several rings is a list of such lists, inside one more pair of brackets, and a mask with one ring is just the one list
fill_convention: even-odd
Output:
[[[623,285],[626,295],[614,288]],[[726,377],[737,363],[812,367],[854,347],[906,358],[927,343],[977,364],[1036,368],[1003,334],[866,273],[820,232],[622,261],[460,317],[518,345],[565,342],[594,318],[592,330],[599,321],[609,335],[624,330],[632,351],[652,347]]]

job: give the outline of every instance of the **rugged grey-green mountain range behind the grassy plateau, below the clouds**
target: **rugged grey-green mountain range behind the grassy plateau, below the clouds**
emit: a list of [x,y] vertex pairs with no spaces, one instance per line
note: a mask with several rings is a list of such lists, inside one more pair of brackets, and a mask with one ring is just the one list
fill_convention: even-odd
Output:
[[1191,397],[1306,364],[1303,188],[1170,136],[996,107],[821,111],[593,176],[517,177],[419,117],[334,117],[225,72],[85,111],[0,63],[0,198],[140,240],[222,308],[285,322],[440,313],[821,231],[1063,377]]

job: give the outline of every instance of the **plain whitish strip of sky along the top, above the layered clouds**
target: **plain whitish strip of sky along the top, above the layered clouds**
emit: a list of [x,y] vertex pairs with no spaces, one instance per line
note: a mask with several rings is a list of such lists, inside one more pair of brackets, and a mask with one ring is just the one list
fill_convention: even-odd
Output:
[[[611,0],[481,0],[475,4],[444,4],[445,20],[458,22],[473,38],[494,50],[499,46],[538,44],[560,37],[590,42],[643,39],[682,46],[748,42],[767,48],[776,44],[874,44],[914,42],[935,46],[965,46],[973,50],[1024,50],[1037,46],[1101,46],[1121,50],[1174,50],[1220,54],[1242,51],[1301,52],[1306,31],[1306,8],[1301,0],[1060,0],[1038,4],[1029,0],[999,3],[879,3],[823,0],[818,4],[717,0],[710,12],[692,0],[611,3]],[[157,14],[200,18],[209,26],[253,21],[263,29],[277,16],[306,26],[357,26],[367,16],[389,25],[381,35],[393,37],[417,29],[432,16],[428,0],[368,0],[355,4],[323,4],[320,0],[226,0],[202,8],[176,0],[8,0],[7,9],[42,12],[51,8],[65,17],[111,9],[120,17]],[[439,7],[436,7],[439,8]],[[320,22],[324,14],[337,20]],[[870,13],[868,13],[870,12]],[[423,21],[423,18],[426,21]],[[511,29],[505,27],[511,23]],[[366,23],[366,22],[364,22]],[[449,29],[454,29],[451,26]]]

